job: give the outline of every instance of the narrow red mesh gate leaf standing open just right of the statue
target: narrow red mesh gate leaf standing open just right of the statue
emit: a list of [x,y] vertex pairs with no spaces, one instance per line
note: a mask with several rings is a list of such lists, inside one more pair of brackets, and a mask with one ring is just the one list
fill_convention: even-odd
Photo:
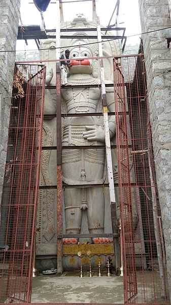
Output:
[[114,95],[116,111],[116,138],[118,153],[119,205],[121,220],[121,248],[124,276],[124,301],[136,296],[137,283],[130,192],[129,150],[126,118],[124,77],[114,59]]

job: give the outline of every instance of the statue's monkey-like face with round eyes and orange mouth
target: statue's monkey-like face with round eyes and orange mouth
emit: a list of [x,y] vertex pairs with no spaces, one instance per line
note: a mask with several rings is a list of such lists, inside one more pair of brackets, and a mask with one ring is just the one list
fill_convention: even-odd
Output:
[[[85,73],[91,74],[92,73],[92,66],[91,60],[87,58],[92,57],[92,53],[89,48],[86,46],[78,46],[71,50],[70,58],[71,60],[71,67],[70,67],[70,74],[77,74],[77,73]],[[81,60],[79,60],[81,58]]]

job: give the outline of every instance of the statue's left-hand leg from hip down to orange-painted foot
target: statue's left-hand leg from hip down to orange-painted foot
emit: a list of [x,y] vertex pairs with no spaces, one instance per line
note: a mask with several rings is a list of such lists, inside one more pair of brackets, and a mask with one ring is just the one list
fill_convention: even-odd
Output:
[[[81,152],[70,150],[62,152],[62,174],[67,184],[74,184],[81,177]],[[64,206],[67,234],[79,234],[81,231],[81,198],[80,188],[65,188]],[[77,243],[78,238],[64,239],[64,243]]]

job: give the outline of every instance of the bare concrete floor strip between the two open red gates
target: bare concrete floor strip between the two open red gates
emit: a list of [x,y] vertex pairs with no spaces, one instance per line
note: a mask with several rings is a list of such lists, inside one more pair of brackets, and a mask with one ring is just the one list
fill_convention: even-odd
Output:
[[31,302],[79,302],[123,304],[121,276],[40,275],[33,278]]

